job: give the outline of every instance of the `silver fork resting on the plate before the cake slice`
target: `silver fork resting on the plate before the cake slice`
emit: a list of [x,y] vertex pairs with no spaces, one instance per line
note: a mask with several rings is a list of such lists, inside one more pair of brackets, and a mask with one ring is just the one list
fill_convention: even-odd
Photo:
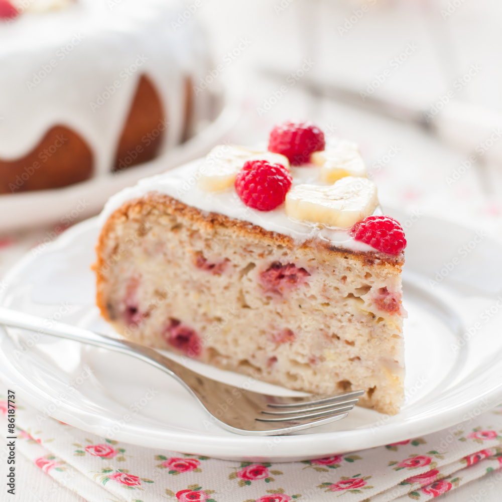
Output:
[[333,396],[285,397],[260,394],[217,382],[157,350],[76,326],[0,307],[0,324],[29,329],[131,355],[161,369],[182,384],[221,427],[248,436],[276,436],[345,418],[364,391]]

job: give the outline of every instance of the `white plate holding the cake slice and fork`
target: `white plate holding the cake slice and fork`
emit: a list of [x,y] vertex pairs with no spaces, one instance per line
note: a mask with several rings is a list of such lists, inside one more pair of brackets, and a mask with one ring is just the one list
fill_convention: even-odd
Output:
[[[110,332],[93,304],[89,267],[97,233],[95,220],[88,220],[42,252],[31,253],[6,278],[0,303],[46,316],[48,322],[60,319]],[[496,315],[502,308],[502,246],[425,216],[407,230],[407,238],[407,399],[396,416],[356,408],[345,420],[303,434],[238,436],[211,422],[179,384],[156,369],[103,349],[14,329],[9,329],[11,336],[0,329],[0,378],[20,398],[75,427],[219,458],[299,460],[432,433],[502,401],[502,316]],[[437,279],[445,277],[431,285],[436,273]],[[465,336],[469,327],[472,335]],[[294,394],[196,361],[190,364],[235,385]]]

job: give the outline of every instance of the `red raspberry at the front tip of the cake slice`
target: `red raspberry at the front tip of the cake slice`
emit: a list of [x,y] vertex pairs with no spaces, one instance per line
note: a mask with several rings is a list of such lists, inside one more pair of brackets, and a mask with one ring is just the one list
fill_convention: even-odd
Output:
[[389,255],[399,255],[406,247],[405,232],[394,218],[387,215],[368,216],[358,221],[350,235]]

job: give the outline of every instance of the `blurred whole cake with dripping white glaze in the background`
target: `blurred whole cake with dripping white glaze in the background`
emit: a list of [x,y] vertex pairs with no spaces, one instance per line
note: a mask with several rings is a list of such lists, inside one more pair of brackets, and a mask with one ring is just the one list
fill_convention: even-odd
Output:
[[0,0],[0,193],[151,160],[214,116],[195,20],[165,0]]

